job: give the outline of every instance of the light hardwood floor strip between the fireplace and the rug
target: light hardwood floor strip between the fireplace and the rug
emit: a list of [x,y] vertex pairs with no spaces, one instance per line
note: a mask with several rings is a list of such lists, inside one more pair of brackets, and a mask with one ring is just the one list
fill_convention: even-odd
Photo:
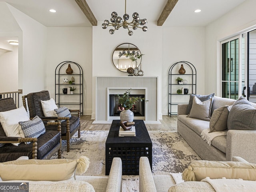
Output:
[[[111,124],[92,124],[94,120],[90,115],[81,116],[81,130],[109,130]],[[148,130],[174,131],[177,130],[177,116],[172,117],[164,115],[160,120],[161,124],[146,124]]]

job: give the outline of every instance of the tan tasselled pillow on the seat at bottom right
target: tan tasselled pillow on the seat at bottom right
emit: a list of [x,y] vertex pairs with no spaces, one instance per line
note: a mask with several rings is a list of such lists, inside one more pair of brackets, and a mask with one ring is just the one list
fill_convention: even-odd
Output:
[[185,181],[200,181],[206,177],[218,179],[256,180],[256,164],[233,161],[197,160],[190,163],[182,173]]

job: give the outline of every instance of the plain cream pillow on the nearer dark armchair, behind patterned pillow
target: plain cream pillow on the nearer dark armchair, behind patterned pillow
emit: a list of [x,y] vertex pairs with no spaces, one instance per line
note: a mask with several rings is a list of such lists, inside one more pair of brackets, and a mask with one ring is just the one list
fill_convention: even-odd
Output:
[[[6,136],[8,137],[22,137],[20,135],[19,122],[28,120],[30,120],[30,118],[24,106],[17,109],[0,112],[0,122]],[[18,146],[20,143],[12,144]]]

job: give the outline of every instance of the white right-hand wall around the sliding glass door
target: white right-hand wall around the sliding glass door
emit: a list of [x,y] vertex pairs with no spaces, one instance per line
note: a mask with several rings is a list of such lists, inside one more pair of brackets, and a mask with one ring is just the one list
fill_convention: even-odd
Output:
[[215,92],[220,96],[218,80],[220,74],[220,40],[239,34],[251,26],[256,25],[256,1],[246,0],[238,7],[215,20],[205,30],[205,94]]

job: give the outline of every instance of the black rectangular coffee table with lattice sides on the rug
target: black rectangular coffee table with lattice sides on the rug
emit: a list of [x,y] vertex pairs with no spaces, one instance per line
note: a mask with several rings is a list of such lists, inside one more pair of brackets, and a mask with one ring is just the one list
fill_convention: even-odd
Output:
[[123,175],[138,175],[140,157],[149,159],[152,170],[152,142],[143,120],[134,120],[136,137],[118,137],[120,120],[113,120],[106,140],[106,175],[114,157],[122,159]]

